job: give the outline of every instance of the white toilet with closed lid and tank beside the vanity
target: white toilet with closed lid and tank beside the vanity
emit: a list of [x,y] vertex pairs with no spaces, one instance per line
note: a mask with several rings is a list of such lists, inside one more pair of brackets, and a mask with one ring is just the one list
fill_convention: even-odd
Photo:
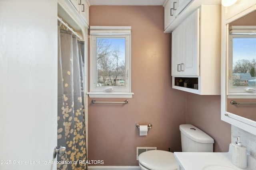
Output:
[[[180,125],[182,152],[213,152],[214,140],[189,124]],[[177,170],[178,163],[173,152],[149,150],[139,155],[141,170]]]

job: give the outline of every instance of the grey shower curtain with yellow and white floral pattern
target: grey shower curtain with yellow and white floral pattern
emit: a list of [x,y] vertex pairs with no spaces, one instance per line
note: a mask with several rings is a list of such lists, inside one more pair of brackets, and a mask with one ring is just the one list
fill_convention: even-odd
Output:
[[87,169],[83,78],[84,42],[58,23],[58,170]]

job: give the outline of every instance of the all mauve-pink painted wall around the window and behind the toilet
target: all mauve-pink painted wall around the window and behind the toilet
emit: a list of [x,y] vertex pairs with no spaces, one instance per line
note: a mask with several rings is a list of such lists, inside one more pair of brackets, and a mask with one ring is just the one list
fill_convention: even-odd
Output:
[[[91,104],[88,98],[88,160],[104,160],[105,166],[138,166],[136,147],[180,151],[179,125],[186,121],[217,139],[216,151],[228,149],[230,126],[220,121],[220,96],[195,97],[171,87],[171,34],[163,33],[162,6],[90,6],[90,25],[132,27],[134,96],[127,105]],[[192,105],[194,98],[199,104]],[[204,117],[200,102],[207,100],[214,103]],[[187,119],[186,107],[190,110]],[[148,136],[139,136],[136,123],[152,123]],[[220,127],[227,130],[220,131]]]

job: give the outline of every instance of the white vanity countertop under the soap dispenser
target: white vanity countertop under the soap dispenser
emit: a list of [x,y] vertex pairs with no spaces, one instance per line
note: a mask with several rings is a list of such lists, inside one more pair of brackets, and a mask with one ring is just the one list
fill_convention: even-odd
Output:
[[231,162],[230,152],[174,152],[180,170],[256,170],[256,160],[248,155],[247,168]]

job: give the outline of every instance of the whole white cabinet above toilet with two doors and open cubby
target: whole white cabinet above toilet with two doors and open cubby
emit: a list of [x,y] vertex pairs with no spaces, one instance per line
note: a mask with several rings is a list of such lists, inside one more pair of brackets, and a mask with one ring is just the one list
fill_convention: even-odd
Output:
[[[220,94],[220,30],[220,5],[200,6],[174,29],[173,88],[201,95]],[[189,86],[178,82],[189,82]]]

